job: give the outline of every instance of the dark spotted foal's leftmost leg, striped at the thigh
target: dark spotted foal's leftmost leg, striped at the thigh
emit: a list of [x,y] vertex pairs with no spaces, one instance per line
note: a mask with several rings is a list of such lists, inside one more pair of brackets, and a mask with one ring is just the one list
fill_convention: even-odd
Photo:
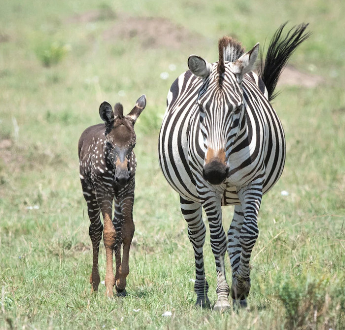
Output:
[[98,270],[98,255],[100,251],[100,242],[103,233],[103,224],[100,217],[100,208],[97,203],[96,195],[84,180],[81,180],[84,198],[87,203],[87,212],[90,219],[89,236],[92,242],[92,272],[90,275],[91,292],[98,291],[100,284],[100,273]]

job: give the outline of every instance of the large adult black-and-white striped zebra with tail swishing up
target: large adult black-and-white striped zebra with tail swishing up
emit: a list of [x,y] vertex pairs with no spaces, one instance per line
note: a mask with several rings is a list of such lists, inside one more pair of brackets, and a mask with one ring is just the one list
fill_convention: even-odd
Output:
[[[159,135],[159,162],[167,181],[180,195],[196,266],[196,305],[207,306],[203,245],[206,226],[217,271],[214,309],[230,307],[224,256],[232,268],[233,303],[246,306],[250,290],[249,259],[258,237],[261,198],[279,179],[285,161],[283,128],[269,101],[288,58],[310,36],[308,24],[282,37],[283,24],[272,38],[259,75],[251,70],[257,43],[244,53],[231,37],[219,40],[219,61],[207,63],[191,55],[189,71],[172,84]],[[228,240],[222,205],[235,205]]]

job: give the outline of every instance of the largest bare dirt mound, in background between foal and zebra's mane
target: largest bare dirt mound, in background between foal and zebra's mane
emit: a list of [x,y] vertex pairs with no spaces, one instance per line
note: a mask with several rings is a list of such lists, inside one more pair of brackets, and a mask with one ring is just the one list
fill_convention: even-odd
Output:
[[137,38],[142,48],[173,48],[195,45],[204,37],[161,17],[119,17],[104,32],[104,40]]

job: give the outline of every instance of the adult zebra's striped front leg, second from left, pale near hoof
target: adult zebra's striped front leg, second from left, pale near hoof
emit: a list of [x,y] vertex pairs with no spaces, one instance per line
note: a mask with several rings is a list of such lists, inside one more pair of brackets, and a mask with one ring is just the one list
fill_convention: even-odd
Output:
[[211,240],[211,248],[215,259],[217,271],[217,295],[218,299],[214,305],[214,309],[224,311],[230,308],[228,301],[229,286],[226,281],[224,257],[226,253],[226,235],[222,225],[222,210],[220,200],[209,198],[203,204],[209,223],[209,232]]

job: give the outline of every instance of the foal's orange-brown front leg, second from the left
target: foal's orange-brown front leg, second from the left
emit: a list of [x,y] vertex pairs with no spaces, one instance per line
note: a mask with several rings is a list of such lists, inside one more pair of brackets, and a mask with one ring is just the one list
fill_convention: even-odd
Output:
[[105,272],[105,295],[113,297],[113,287],[115,285],[115,277],[113,271],[113,251],[116,243],[116,230],[112,222],[112,196],[106,195],[98,198],[101,205],[101,211],[104,219],[103,240],[106,254],[106,272]]

